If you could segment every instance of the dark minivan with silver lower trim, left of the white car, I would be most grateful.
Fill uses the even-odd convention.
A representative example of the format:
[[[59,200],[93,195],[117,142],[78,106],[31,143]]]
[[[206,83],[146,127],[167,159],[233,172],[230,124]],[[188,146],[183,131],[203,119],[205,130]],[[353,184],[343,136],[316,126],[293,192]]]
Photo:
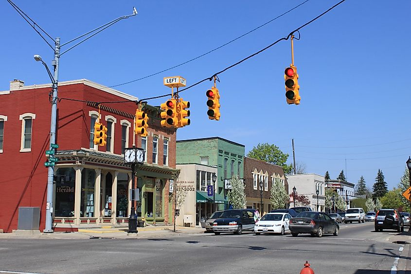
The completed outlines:
[[[213,222],[214,234],[220,235],[221,232],[233,232],[240,235],[246,230],[253,231],[258,217],[259,214],[256,209],[224,210],[221,216]]]

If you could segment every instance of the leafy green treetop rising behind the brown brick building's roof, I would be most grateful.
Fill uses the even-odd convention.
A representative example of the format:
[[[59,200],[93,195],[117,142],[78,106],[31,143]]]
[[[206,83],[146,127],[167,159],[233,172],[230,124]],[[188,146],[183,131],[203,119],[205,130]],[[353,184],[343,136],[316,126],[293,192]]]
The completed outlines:
[[[286,174],[290,174],[292,170],[292,164],[286,164],[288,154],[283,153],[280,148],[275,145],[268,145],[268,143],[258,144],[247,153],[247,157],[280,165]]]

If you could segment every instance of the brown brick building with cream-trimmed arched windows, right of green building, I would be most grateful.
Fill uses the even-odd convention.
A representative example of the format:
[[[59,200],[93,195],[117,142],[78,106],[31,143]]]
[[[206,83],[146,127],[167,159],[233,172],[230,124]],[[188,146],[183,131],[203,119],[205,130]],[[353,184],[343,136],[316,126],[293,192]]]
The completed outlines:
[[[263,183],[263,206],[260,205],[260,178]],[[272,209],[270,204],[271,187],[275,180],[278,179],[283,183],[286,193],[288,193],[287,178],[284,175],[284,170],[276,164],[269,164],[264,161],[253,158],[244,158],[244,184],[247,200],[247,208],[255,208],[261,212],[270,212]],[[286,204],[284,204],[286,206]],[[260,208],[262,210],[260,210]]]

